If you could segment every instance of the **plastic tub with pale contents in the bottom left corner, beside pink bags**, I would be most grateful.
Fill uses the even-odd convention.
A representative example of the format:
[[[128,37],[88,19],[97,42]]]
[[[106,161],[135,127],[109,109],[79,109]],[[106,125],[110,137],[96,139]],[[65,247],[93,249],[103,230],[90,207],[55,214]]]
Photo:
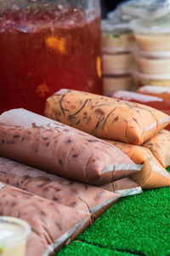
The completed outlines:
[[[24,256],[30,224],[20,218],[0,217],[0,255]]]

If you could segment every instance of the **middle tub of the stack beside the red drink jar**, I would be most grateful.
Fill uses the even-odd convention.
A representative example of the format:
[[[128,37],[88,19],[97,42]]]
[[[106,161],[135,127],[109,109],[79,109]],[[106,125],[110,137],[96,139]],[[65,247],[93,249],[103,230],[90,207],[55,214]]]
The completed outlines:
[[[103,54],[102,67],[103,74],[127,74],[133,64],[131,53]]]

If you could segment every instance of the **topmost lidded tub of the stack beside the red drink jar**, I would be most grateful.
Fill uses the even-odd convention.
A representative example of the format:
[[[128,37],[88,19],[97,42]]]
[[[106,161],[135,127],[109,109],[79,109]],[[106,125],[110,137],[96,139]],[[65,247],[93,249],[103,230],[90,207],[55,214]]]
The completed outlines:
[[[134,44],[133,32],[126,24],[102,20],[102,52],[117,53],[130,50]]]

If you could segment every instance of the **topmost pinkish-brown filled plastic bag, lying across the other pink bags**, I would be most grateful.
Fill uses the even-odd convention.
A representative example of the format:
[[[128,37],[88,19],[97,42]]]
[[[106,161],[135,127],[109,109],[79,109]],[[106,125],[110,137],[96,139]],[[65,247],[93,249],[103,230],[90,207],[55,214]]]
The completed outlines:
[[[0,137],[2,156],[83,183],[102,185],[141,169],[118,148],[24,109],[0,116]]]

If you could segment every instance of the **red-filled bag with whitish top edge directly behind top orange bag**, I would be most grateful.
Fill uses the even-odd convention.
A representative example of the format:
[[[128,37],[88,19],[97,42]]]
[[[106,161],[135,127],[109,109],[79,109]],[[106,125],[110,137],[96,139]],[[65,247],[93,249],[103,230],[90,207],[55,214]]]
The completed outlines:
[[[138,92],[117,90],[113,97],[128,102],[137,102],[161,110],[164,113],[170,115],[170,101],[163,100],[157,96],[142,95]]]

